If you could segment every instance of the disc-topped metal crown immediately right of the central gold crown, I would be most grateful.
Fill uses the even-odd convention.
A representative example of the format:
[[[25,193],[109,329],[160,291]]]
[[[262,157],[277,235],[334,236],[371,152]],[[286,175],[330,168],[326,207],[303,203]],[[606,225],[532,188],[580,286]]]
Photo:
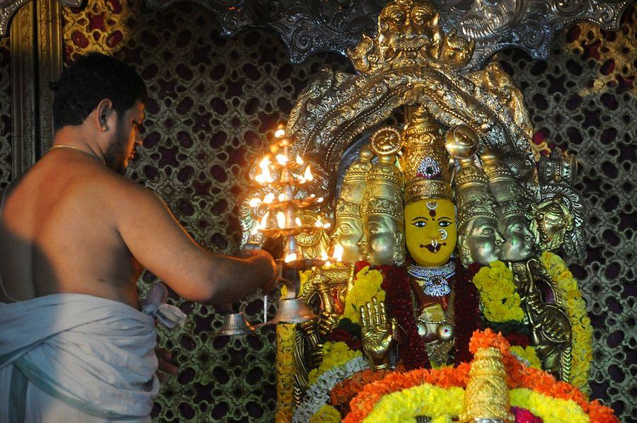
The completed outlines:
[[[445,147],[460,165],[454,178],[458,227],[462,228],[478,216],[497,221],[495,199],[489,192],[486,174],[474,161],[477,149],[476,133],[464,125],[450,129],[447,132]]]

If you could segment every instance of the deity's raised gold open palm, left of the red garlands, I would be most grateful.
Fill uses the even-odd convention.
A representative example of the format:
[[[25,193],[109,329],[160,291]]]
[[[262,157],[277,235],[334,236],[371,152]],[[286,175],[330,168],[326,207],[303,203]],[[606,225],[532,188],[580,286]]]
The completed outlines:
[[[362,347],[372,369],[385,369],[389,365],[389,349],[396,338],[396,319],[387,321],[385,303],[374,296],[359,309]]]

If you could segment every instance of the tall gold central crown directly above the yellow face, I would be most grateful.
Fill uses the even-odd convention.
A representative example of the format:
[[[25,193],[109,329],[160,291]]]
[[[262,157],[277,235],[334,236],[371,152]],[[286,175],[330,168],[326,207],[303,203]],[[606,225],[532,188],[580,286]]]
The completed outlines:
[[[418,108],[405,128],[405,204],[419,199],[453,200],[449,156],[440,127],[425,108]]]

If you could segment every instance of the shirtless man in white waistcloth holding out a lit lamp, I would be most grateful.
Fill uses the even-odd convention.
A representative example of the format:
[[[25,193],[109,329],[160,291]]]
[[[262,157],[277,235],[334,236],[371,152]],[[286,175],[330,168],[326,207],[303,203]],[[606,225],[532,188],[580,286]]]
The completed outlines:
[[[8,408],[7,404],[13,401],[11,398],[16,393],[12,391],[12,379],[17,373],[22,373],[28,385],[24,388],[26,411],[22,406],[14,411],[18,415],[20,410],[26,412],[22,417],[27,421],[29,416],[42,419],[42,422],[48,421],[42,417],[47,415],[46,410],[42,414],[42,404],[56,414],[52,417],[48,412],[50,421],[64,421],[64,417],[59,415],[63,413],[60,410],[67,410],[67,405],[77,405],[77,402],[80,405],[74,408],[91,416],[86,421],[101,422],[121,417],[147,421],[151,396],[156,393],[156,388],[151,388],[156,386],[156,379],[147,374],[148,369],[144,373],[148,380],[142,378],[134,382],[125,381],[124,384],[128,384],[130,392],[137,392],[140,386],[145,386],[150,395],[134,400],[131,395],[122,394],[124,401],[135,402],[126,408],[104,400],[102,396],[108,396],[108,393],[96,385],[97,381],[88,381],[88,386],[74,390],[70,385],[75,382],[74,379],[83,376],[79,371],[71,371],[67,375],[68,380],[63,378],[50,383],[47,380],[49,376],[42,373],[47,369],[57,370],[50,369],[50,366],[66,360],[66,356],[62,357],[60,353],[62,358],[45,358],[42,361],[45,364],[39,364],[35,356],[47,353],[39,352],[33,344],[41,344],[41,340],[25,340],[13,347],[7,344],[22,334],[29,337],[30,330],[38,331],[42,325],[55,326],[50,322],[55,322],[56,318],[62,325],[67,313],[75,313],[70,311],[69,303],[78,301],[82,303],[81,307],[85,307],[83,301],[91,305],[76,313],[74,319],[91,315],[94,309],[91,307],[96,303],[100,311],[113,307],[112,311],[105,312],[107,319],[118,315],[129,318],[130,314],[132,321],[147,325],[147,320],[144,320],[147,316],[139,312],[136,289],[137,279],[144,268],[156,274],[184,299],[213,306],[239,300],[258,288],[268,291],[275,282],[276,265],[268,253],[256,250],[246,253],[247,257],[235,258],[207,252],[188,236],[154,192],[122,176],[134,156],[135,146],[142,144],[139,126],[144,120],[146,95],[142,79],[116,59],[102,54],[89,54],[78,59],[64,71],[57,83],[53,106],[56,132],[52,149],[8,187],[0,209],[0,282],[4,288],[0,290],[0,410]],[[53,301],[54,304],[34,301]],[[29,306],[31,303],[35,305]],[[13,309],[10,310],[11,307]],[[52,314],[41,317],[31,314],[30,318],[25,318],[21,315],[37,314],[40,310],[46,313],[49,309],[54,310]],[[38,320],[38,326],[32,328],[29,322],[33,319]],[[108,330],[113,330],[113,325],[117,327],[123,318],[113,319],[119,320],[111,322]],[[14,321],[10,324],[9,320]],[[55,340],[59,333],[70,336],[68,333],[72,332],[76,336],[75,329],[71,328],[73,325],[79,323],[69,324],[68,332],[66,327],[50,329],[51,333],[42,335],[42,338],[49,342],[50,339]],[[91,332],[91,325],[96,325],[96,322],[86,322],[83,333]],[[129,327],[130,322],[122,325],[121,335],[133,339],[137,335],[127,333]],[[18,329],[21,333],[17,332]],[[149,337],[146,329],[144,326],[144,340]],[[11,330],[13,332],[9,334]],[[101,330],[96,332],[101,334]],[[62,339],[62,335],[57,337]],[[74,338],[74,342],[83,341]],[[87,340],[86,344],[96,342],[110,341],[100,338],[97,341]],[[64,350],[67,347],[59,348]],[[127,347],[118,344],[119,349],[113,355],[130,353],[139,356],[139,368],[156,368],[152,347],[154,345],[144,344],[142,352],[131,353]],[[91,349],[84,344],[76,347],[84,348]],[[109,348],[110,345],[102,346],[96,354],[102,354],[104,349]],[[122,352],[122,348],[125,351]],[[23,354],[23,349],[29,352]],[[13,356],[13,359],[2,361],[6,359],[3,354]],[[70,354],[74,354],[73,351]],[[110,357],[99,359],[112,361]],[[91,360],[90,357],[87,359]],[[130,362],[115,365],[109,361],[108,369],[113,366],[122,366],[122,375],[117,376],[121,378],[138,371]],[[13,378],[11,370],[17,372]],[[103,370],[93,373],[100,371]],[[109,383],[113,384],[113,381]],[[100,390],[101,397],[88,395],[87,398],[81,393],[83,388]],[[52,393],[52,390],[55,392]],[[33,400],[30,397],[35,392],[40,397],[47,394],[62,397],[64,404],[51,405],[52,398],[47,398],[34,406],[29,401]],[[120,393],[114,392],[114,395],[120,397]],[[121,402],[122,398],[114,401]],[[103,403],[94,404],[93,401]],[[30,407],[40,407],[40,415]],[[9,410],[9,421],[11,412]],[[29,415],[29,412],[32,414]],[[0,412],[1,422],[6,421],[4,417]],[[77,415],[73,418],[84,421]]]

